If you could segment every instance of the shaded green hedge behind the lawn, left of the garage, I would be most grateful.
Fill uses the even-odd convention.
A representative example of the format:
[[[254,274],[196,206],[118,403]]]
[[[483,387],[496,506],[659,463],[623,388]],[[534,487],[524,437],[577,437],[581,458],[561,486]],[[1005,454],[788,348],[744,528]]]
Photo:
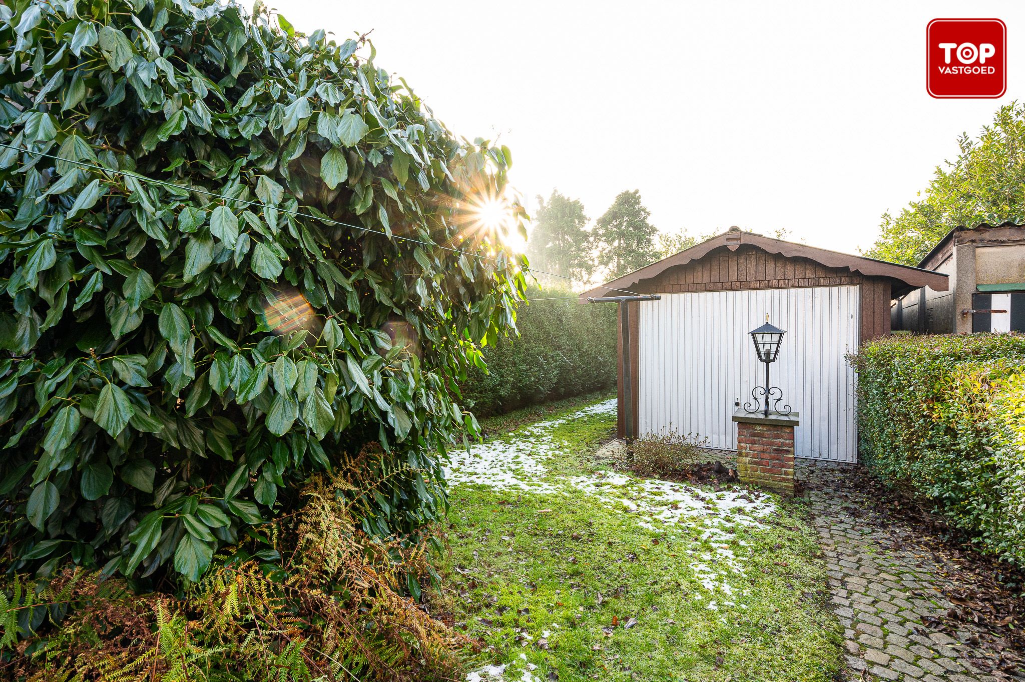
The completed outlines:
[[[520,336],[485,346],[487,371],[474,369],[460,387],[478,417],[616,385],[615,305],[581,305],[559,289],[528,298],[541,300],[521,306]]]

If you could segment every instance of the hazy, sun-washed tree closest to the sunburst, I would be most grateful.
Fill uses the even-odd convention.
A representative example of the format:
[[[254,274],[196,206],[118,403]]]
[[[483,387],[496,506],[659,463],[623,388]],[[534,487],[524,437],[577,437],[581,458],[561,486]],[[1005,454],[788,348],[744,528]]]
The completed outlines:
[[[587,216],[583,204],[551,190],[548,202],[537,198],[534,229],[530,235],[527,255],[531,266],[583,281],[594,268],[590,259],[590,236],[584,227]]]

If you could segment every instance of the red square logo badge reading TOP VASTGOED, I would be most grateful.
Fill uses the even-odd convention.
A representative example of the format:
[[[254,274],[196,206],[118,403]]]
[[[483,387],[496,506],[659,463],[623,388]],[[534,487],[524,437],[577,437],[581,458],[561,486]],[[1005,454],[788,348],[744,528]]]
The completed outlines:
[[[934,97],[1001,97],[1008,27],[1000,19],[933,19],[926,28],[926,87]]]

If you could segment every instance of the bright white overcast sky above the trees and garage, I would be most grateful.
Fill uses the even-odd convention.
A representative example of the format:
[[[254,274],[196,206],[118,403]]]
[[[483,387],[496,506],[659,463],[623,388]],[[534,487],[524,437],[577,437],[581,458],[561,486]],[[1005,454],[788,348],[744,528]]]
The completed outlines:
[[[1025,2],[270,2],[300,31],[373,31],[455,133],[512,152],[535,206],[591,220],[639,189],[660,230],[731,225],[856,253],[1002,104],[1025,95]],[[926,26],[1008,27],[999,99],[926,90]]]

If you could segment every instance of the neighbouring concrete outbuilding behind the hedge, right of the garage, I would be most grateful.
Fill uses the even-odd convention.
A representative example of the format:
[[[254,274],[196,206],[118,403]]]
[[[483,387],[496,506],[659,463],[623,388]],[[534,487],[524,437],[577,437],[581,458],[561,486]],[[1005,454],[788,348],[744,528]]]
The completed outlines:
[[[948,274],[950,290],[920,289],[897,299],[894,330],[1025,332],[1025,225],[954,227],[918,267]]]

